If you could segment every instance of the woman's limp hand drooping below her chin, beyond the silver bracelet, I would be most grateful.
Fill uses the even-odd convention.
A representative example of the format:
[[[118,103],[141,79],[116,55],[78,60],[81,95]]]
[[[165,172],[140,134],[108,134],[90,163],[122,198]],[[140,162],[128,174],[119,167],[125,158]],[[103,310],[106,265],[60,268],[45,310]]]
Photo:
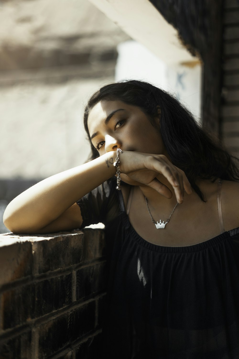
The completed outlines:
[[[154,155],[135,151],[123,151],[119,155],[120,172],[131,180],[152,187],[166,198],[172,197],[171,190],[159,181],[162,175],[172,185],[177,201],[182,203],[184,190],[192,193],[185,173],[173,165],[165,155]],[[122,180],[123,180],[123,176]]]

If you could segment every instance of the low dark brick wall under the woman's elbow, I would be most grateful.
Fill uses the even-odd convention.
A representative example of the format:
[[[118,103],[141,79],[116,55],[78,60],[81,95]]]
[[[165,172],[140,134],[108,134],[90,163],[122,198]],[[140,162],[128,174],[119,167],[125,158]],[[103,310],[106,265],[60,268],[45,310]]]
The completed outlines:
[[[0,235],[0,359],[97,358],[104,232]]]

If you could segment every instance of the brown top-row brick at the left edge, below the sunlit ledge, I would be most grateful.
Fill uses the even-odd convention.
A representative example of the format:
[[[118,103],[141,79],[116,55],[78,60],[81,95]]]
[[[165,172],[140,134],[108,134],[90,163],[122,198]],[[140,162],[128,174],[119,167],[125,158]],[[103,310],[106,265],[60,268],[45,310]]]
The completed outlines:
[[[0,247],[0,286],[31,275],[33,271],[32,243],[10,244],[7,241],[6,236]]]

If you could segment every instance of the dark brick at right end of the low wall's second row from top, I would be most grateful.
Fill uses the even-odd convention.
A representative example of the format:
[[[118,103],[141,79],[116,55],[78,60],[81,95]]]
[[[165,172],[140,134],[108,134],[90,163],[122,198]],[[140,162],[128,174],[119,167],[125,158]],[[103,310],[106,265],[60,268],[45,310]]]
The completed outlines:
[[[106,290],[106,262],[76,271],[76,300]]]

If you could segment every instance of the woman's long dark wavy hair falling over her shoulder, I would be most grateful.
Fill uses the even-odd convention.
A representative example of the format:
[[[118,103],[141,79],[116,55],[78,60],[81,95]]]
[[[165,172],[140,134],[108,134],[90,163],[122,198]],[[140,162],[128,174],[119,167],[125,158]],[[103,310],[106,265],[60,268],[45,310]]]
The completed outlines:
[[[191,112],[173,95],[138,80],[120,81],[102,87],[91,96],[85,107],[84,126],[89,140],[89,111],[101,100],[118,100],[138,106],[156,130],[159,129],[153,117],[157,116],[157,106],[160,106],[160,132],[164,146],[173,165],[185,172],[192,188],[203,202],[207,200],[195,183],[197,177],[212,179],[212,182],[217,178],[239,181],[239,167],[235,163],[239,158],[231,155],[209,130],[202,129]],[[99,157],[92,143],[91,149],[90,159]]]

